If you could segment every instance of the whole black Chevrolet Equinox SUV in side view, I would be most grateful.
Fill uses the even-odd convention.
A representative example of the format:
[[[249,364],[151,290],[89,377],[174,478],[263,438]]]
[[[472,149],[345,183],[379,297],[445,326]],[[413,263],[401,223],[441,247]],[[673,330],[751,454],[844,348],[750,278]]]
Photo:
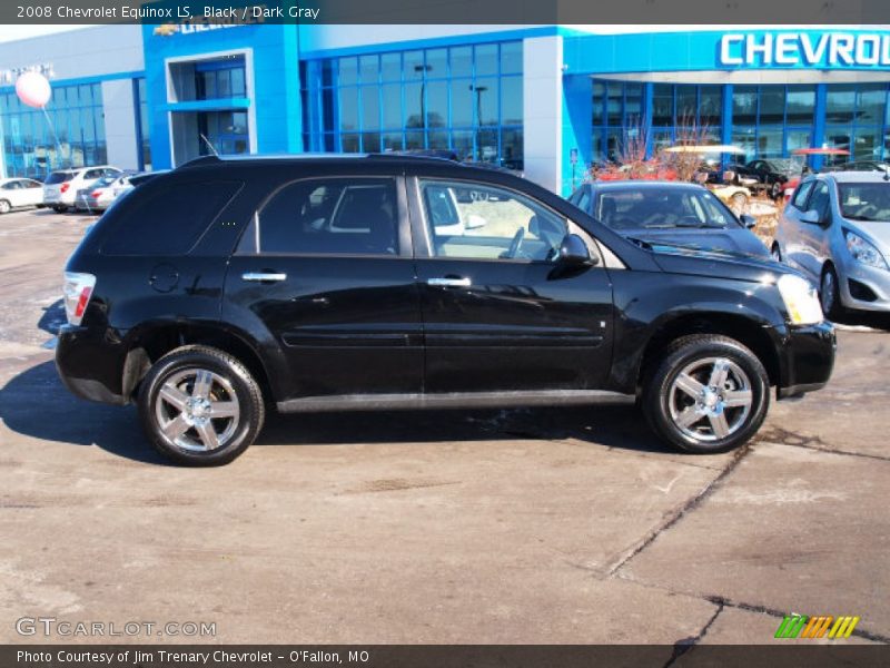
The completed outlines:
[[[497,170],[404,156],[199,158],[111,207],[66,272],[76,394],[139,405],[187,464],[265,412],[636,395],[692,452],[822,387],[834,333],[770,259],[625,239]]]

